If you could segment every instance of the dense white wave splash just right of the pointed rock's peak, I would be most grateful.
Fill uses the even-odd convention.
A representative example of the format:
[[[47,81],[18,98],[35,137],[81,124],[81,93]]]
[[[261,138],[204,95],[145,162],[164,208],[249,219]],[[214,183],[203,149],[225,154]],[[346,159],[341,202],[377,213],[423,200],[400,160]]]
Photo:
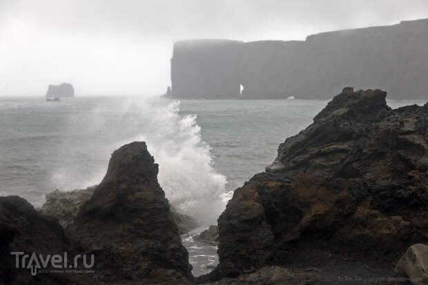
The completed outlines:
[[[200,222],[215,223],[225,205],[226,177],[213,169],[213,156],[201,138],[196,116],[180,116],[178,101],[151,106],[156,106],[150,115],[153,131],[142,130],[133,140],[147,142],[171,205]]]

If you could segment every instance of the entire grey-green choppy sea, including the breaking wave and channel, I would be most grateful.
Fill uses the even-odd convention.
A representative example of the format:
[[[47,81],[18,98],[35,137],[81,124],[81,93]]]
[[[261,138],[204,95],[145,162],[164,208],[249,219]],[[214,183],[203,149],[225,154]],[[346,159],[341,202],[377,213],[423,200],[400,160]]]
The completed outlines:
[[[55,189],[93,186],[113,150],[146,141],[159,184],[182,213],[215,224],[232,191],[262,172],[278,145],[311,124],[327,101],[156,97],[0,97],[0,195],[36,207]],[[425,101],[388,101],[391,108]],[[196,233],[193,233],[196,234]],[[215,245],[183,237],[194,275],[217,263]]]

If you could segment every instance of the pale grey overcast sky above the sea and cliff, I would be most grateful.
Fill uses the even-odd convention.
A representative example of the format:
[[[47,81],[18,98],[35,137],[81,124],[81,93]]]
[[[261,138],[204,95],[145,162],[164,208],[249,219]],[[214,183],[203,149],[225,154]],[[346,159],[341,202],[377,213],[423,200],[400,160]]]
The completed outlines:
[[[427,0],[0,0],[0,95],[155,95],[180,39],[304,39],[428,18]]]

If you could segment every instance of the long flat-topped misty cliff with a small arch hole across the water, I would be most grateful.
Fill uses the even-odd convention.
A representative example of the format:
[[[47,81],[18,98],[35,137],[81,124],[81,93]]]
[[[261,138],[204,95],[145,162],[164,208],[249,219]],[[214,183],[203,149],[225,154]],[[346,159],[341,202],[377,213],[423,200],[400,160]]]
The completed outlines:
[[[329,99],[342,86],[355,86],[382,88],[389,99],[428,99],[427,66],[427,19],[306,41],[179,41],[171,96]]]

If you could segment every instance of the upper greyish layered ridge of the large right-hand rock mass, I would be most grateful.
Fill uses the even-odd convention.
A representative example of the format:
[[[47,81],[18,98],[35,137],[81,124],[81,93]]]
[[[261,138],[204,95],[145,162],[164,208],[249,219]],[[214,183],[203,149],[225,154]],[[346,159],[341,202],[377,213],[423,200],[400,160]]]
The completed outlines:
[[[344,88],[313,124],[286,139],[266,170],[364,178],[376,184],[407,180],[428,163],[427,108],[390,110],[386,92]]]

